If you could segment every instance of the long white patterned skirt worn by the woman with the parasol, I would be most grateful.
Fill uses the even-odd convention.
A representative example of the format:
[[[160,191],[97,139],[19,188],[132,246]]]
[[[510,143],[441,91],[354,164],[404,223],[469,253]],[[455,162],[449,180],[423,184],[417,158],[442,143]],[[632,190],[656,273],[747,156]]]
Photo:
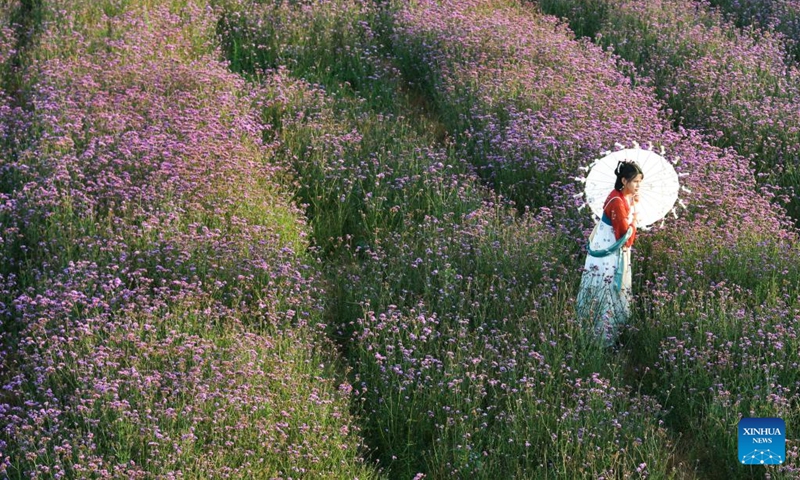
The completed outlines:
[[[616,241],[613,227],[601,221],[589,237],[589,247],[598,251]],[[605,257],[586,256],[576,310],[584,327],[591,328],[592,334],[606,346],[614,343],[619,327],[630,317],[630,259],[628,248],[620,248]],[[617,268],[623,269],[621,287],[614,281]]]

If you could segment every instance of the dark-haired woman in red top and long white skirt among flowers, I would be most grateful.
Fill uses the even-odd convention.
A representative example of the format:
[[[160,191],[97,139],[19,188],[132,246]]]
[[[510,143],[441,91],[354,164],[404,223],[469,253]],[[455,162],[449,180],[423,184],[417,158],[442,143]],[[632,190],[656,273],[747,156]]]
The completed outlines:
[[[591,325],[606,346],[614,343],[619,326],[630,316],[630,249],[636,239],[635,205],[644,178],[642,169],[632,161],[619,162],[614,173],[614,190],[589,237],[576,307],[584,325]]]

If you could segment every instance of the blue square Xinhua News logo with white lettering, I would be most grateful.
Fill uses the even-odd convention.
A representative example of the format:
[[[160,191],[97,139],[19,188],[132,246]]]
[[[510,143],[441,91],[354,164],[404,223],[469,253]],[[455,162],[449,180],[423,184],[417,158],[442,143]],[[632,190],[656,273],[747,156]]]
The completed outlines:
[[[739,462],[778,465],[786,460],[786,423],[780,418],[739,420]]]

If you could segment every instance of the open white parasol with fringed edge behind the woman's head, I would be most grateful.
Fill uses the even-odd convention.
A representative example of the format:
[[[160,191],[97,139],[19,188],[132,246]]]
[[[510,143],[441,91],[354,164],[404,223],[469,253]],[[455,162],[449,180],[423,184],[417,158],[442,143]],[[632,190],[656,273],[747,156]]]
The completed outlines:
[[[662,148],[663,155],[663,148]],[[637,226],[646,228],[664,218],[670,211],[674,212],[675,202],[685,207],[678,200],[681,189],[678,174],[672,164],[662,155],[639,148],[626,148],[608,152],[589,167],[589,174],[583,195],[592,212],[599,218],[603,215],[603,206],[608,194],[614,189],[617,176],[614,170],[623,160],[633,160],[642,169],[644,178],[639,186],[639,201],[636,203]],[[684,190],[688,191],[686,188]]]

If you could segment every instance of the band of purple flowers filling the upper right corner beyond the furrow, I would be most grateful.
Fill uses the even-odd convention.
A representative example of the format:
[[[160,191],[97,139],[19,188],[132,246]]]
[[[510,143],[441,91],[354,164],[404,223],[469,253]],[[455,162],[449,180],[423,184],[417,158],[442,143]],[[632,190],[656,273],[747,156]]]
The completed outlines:
[[[752,162],[760,185],[797,219],[800,183],[799,73],[769,30],[741,30],[695,1],[609,0],[602,16],[585,2],[539,2],[546,13],[574,15],[570,25],[631,62],[676,125],[704,133]]]

